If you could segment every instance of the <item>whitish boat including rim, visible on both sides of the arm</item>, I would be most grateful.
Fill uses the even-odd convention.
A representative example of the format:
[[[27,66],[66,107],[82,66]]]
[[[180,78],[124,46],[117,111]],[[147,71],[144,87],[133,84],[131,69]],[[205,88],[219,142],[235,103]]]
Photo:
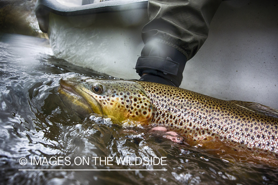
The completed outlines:
[[[117,78],[139,78],[134,67],[149,21],[146,0],[39,0],[36,11],[56,57]],[[180,87],[278,109],[277,12],[275,0],[222,1]]]

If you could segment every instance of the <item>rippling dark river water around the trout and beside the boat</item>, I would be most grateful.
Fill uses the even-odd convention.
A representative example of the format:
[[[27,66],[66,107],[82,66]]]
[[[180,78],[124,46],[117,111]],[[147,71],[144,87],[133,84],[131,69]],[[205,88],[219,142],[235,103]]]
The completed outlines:
[[[165,140],[146,128],[115,125],[103,116],[81,120],[61,102],[56,90],[59,79],[66,73],[103,74],[55,58],[47,40],[1,35],[0,48],[0,184],[278,184],[277,168],[268,165],[232,162],[201,147]],[[31,164],[39,157],[47,162]],[[56,158],[50,161],[54,165],[49,164],[51,157]],[[63,165],[55,165],[58,157]],[[89,165],[86,161],[77,165],[83,157],[87,161],[89,157]],[[113,165],[104,161],[100,165],[93,157],[111,157]],[[167,165],[118,165],[120,157],[130,157],[131,164],[135,157],[167,157],[163,158]],[[26,165],[20,164],[21,158],[26,158]]]

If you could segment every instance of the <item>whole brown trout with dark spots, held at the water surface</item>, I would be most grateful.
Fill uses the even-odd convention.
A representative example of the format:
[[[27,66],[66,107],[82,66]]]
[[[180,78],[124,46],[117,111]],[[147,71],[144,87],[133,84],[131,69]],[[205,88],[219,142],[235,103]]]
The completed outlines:
[[[79,115],[96,113],[164,126],[196,140],[214,137],[278,153],[278,110],[158,83],[65,76],[58,92]]]

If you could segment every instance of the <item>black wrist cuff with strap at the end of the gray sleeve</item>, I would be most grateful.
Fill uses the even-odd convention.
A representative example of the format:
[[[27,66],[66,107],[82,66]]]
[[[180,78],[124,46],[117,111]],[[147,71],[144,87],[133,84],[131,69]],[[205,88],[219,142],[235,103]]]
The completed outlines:
[[[182,73],[186,62],[186,57],[173,47],[159,42],[147,42],[142,49],[141,57],[137,60],[135,69],[141,77],[143,74],[156,75],[163,79],[161,82],[157,80],[155,82],[163,83],[166,79],[179,87],[182,83]],[[151,76],[148,76],[148,79],[145,78],[145,80],[153,81]]]

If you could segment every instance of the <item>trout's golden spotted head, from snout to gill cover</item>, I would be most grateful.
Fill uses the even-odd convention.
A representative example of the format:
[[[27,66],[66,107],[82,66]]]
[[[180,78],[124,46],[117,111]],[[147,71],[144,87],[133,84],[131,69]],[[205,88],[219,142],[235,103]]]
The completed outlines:
[[[83,116],[96,113],[120,123],[131,119],[148,124],[154,115],[151,100],[135,81],[68,75],[61,78],[58,92],[67,107]]]

